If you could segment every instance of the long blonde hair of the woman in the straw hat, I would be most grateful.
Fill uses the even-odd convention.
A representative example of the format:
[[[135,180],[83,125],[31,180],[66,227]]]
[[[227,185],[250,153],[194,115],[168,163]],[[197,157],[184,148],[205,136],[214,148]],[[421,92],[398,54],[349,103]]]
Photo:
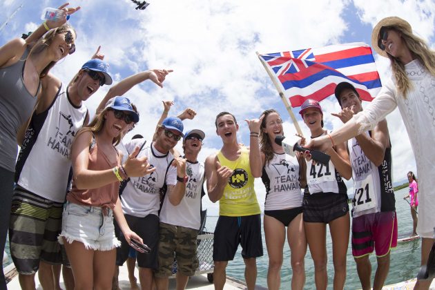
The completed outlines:
[[[435,51],[427,46],[426,41],[412,32],[401,29],[399,26],[387,26],[387,28],[398,31],[412,56],[418,59],[431,75],[435,76]],[[406,99],[407,93],[412,89],[412,83],[406,75],[405,64],[400,59],[389,55],[389,53],[387,53],[387,56],[392,64],[392,72],[396,79],[398,92]]]

